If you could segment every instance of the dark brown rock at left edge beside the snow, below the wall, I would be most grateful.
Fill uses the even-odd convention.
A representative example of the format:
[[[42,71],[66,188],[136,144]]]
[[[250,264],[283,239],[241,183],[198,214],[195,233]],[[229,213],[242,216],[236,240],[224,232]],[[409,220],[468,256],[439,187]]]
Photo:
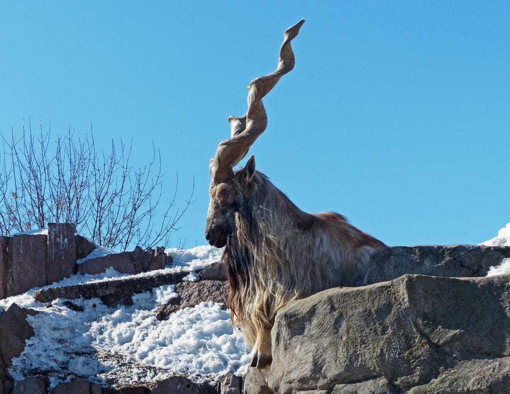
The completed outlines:
[[[12,358],[19,357],[25,341],[34,335],[34,329],[27,322],[29,314],[34,316],[37,312],[12,303],[0,316],[0,351],[7,367],[12,366]]]

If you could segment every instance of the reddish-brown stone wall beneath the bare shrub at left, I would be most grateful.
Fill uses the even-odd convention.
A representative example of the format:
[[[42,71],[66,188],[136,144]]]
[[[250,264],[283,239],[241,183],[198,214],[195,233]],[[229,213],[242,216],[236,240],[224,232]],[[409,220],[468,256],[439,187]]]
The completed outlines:
[[[75,234],[72,223],[48,223],[46,234],[0,236],[0,299],[22,294],[75,273],[97,274],[113,267],[118,272],[136,274],[165,268],[171,258],[163,247],[143,250],[137,246],[124,251],[86,260],[94,243]]]

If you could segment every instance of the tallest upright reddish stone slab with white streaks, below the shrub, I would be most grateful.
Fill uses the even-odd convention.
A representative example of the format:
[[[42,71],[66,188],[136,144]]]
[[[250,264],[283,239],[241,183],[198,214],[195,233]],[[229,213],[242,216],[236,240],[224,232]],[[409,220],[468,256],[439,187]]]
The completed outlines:
[[[48,223],[46,283],[74,274],[76,266],[76,226],[73,223]]]

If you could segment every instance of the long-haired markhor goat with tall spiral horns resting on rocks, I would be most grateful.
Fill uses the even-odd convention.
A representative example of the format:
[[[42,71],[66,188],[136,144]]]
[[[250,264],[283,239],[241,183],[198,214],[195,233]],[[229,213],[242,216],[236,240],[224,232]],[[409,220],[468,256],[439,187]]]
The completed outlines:
[[[361,285],[370,254],[384,246],[338,213],[301,211],[255,170],[253,156],[233,171],[266,129],[262,98],[294,67],[290,41],[303,22],[285,32],[276,71],[251,81],[248,112],[229,118],[231,138],[220,143],[210,165],[206,239],[225,246],[232,321],[254,346],[251,366],[258,368],[271,363],[271,328],[279,308],[328,288]]]

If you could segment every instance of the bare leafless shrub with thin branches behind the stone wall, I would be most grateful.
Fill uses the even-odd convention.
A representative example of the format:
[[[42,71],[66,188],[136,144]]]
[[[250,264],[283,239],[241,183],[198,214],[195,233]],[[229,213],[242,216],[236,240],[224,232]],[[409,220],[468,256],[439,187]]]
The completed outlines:
[[[166,209],[163,197],[161,154],[152,144],[147,164],[137,170],[130,164],[132,143],[115,144],[105,152],[96,149],[92,129],[83,139],[74,131],[25,132],[3,138],[0,153],[0,234],[10,235],[46,228],[48,222],[72,222],[80,234],[97,244],[126,250],[130,245],[169,245],[172,230],[191,204],[175,207],[179,178]],[[55,153],[50,149],[55,148]]]

